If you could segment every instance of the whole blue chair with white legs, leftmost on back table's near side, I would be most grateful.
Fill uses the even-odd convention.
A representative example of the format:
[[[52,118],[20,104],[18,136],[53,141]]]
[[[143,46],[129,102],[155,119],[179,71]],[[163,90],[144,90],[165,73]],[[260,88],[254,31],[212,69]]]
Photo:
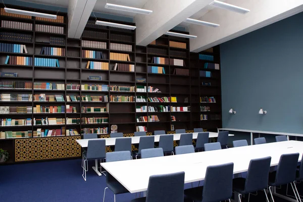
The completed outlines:
[[[86,172],[88,171],[88,162],[89,160],[103,160],[105,159],[105,139],[91,139],[88,140],[87,152],[83,155],[83,174],[82,177],[86,181]],[[86,163],[85,163],[86,162]],[[98,169],[95,167],[94,169]]]

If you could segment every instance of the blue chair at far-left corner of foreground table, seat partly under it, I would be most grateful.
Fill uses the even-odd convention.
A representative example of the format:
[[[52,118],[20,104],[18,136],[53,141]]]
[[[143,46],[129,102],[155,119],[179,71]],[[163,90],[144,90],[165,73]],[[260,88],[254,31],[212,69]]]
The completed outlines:
[[[126,160],[131,160],[130,151],[113,151],[113,152],[106,153],[107,162],[126,161]],[[116,194],[129,192],[110,173],[107,173],[107,175],[106,175],[106,185],[107,185],[107,187],[104,189],[103,202],[105,200],[105,192],[106,192],[107,188],[109,188],[113,191],[114,201],[116,201]]]

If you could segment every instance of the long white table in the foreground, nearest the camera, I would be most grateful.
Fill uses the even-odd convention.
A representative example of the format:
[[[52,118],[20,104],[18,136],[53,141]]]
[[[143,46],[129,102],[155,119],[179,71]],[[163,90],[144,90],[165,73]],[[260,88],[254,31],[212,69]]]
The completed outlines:
[[[299,153],[300,161],[302,148],[303,142],[291,140],[184,155],[101,163],[100,165],[129,192],[136,193],[147,190],[148,179],[151,175],[184,171],[185,183],[196,182],[205,179],[206,168],[211,165],[233,162],[234,174],[237,174],[247,171],[251,159],[271,156],[271,166],[276,166],[282,154]],[[277,194],[275,190],[274,193]],[[284,195],[279,196],[289,199]]]

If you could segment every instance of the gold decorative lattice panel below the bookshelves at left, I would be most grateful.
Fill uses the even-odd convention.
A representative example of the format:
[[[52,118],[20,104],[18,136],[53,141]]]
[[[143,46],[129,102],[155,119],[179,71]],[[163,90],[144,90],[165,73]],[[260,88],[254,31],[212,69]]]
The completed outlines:
[[[15,140],[15,161],[80,157],[80,137],[43,137]]]

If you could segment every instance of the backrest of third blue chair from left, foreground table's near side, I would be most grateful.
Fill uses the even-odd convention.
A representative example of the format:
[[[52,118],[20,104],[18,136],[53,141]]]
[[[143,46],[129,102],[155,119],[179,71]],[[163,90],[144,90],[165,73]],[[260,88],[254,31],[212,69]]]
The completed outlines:
[[[270,162],[271,157],[250,160],[244,188],[246,193],[267,188]]]

